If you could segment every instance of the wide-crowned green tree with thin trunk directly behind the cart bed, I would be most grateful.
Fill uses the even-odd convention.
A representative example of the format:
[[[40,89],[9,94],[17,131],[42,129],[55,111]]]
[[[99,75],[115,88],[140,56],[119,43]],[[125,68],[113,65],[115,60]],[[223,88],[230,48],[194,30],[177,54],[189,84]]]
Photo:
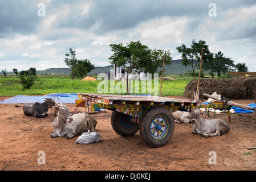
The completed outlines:
[[[157,68],[162,65],[162,60],[164,58],[164,51],[157,49],[149,49],[148,46],[145,46],[137,42],[130,42],[127,46],[123,44],[110,44],[111,51],[113,55],[108,59],[111,60],[109,63],[116,64],[117,67],[123,67],[125,72],[127,72],[127,94],[129,94],[128,86],[128,75],[132,74],[132,77],[136,73],[155,73]],[[172,63],[172,57],[170,57],[170,52],[166,52],[165,64],[169,65]],[[131,78],[132,80],[132,78]],[[131,84],[131,81],[130,81]]]

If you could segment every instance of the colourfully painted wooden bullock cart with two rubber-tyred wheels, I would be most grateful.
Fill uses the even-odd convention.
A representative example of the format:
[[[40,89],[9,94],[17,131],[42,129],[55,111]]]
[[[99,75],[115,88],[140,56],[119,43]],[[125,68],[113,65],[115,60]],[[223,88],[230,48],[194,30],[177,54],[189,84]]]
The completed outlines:
[[[152,147],[161,147],[172,137],[174,119],[170,111],[190,111],[192,107],[230,109],[224,101],[199,105],[196,101],[169,97],[78,93],[75,105],[91,111],[112,110],[111,125],[121,136],[140,130],[141,138]]]

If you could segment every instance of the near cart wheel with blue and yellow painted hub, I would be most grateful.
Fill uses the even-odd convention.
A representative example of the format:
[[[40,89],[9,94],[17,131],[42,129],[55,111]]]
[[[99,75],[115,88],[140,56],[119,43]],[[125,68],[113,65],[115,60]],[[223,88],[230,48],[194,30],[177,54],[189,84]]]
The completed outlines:
[[[172,137],[174,119],[164,107],[152,107],[141,119],[140,135],[151,147],[161,147]]]

